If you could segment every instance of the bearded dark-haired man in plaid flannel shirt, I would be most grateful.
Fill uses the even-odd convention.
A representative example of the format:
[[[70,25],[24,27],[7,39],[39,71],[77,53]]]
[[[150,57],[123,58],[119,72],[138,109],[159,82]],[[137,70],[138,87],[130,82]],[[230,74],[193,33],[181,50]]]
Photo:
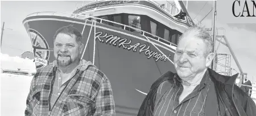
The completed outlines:
[[[32,79],[25,115],[115,115],[109,79],[90,61],[80,60],[81,33],[61,27],[53,45],[56,60]]]

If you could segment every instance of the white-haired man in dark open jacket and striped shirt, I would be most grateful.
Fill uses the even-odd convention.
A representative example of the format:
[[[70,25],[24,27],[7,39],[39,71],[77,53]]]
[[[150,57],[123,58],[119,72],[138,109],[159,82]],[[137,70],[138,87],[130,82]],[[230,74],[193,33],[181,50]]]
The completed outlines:
[[[222,76],[208,67],[212,63],[212,40],[199,26],[180,36],[174,65],[152,84],[138,116],[256,115],[253,100],[234,84],[238,74]]]

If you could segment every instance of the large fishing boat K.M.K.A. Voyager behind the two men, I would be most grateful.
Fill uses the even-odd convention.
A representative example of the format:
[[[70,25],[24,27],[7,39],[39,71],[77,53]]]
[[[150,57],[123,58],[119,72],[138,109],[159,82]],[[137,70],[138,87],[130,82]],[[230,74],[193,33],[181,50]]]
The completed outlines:
[[[151,84],[167,71],[176,72],[178,38],[194,23],[182,1],[94,1],[72,14],[33,13],[23,25],[37,69],[55,60],[53,36],[70,24],[83,37],[81,59],[109,78],[117,115],[137,115]]]

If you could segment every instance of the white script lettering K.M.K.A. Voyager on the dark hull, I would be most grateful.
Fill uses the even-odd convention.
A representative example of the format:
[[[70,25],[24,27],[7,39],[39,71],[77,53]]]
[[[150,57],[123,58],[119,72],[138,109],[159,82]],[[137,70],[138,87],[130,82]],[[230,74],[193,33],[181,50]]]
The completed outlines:
[[[96,33],[95,38],[101,43],[105,42],[106,44],[109,43],[110,45],[113,45],[113,46],[118,45],[118,47],[123,47],[124,49],[127,49],[128,51],[133,49],[133,52],[136,52],[137,47],[139,47],[139,53],[144,52],[144,54],[147,56],[147,59],[150,59],[151,57],[154,57],[155,61],[158,61],[158,60],[166,61],[167,57],[169,58],[171,56],[171,55],[162,55],[161,53],[150,50],[150,45],[141,44],[140,42],[135,43],[135,44],[132,45],[131,44],[131,42],[132,42],[131,39],[128,42],[128,39],[126,39],[126,38],[120,38],[118,36],[108,35],[108,33],[103,35],[103,32],[101,32],[101,31]],[[106,40],[103,40],[103,39],[106,39]]]

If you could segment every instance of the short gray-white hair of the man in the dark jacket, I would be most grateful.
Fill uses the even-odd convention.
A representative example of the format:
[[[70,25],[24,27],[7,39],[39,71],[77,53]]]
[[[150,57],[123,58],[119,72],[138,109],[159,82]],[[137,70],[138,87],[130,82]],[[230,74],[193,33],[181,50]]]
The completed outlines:
[[[195,24],[192,27],[189,27],[179,38],[182,39],[185,36],[194,36],[196,38],[202,39],[205,43],[206,51],[204,53],[205,57],[209,55],[209,53],[213,52],[213,42],[210,34],[207,32],[206,28],[201,25]]]

